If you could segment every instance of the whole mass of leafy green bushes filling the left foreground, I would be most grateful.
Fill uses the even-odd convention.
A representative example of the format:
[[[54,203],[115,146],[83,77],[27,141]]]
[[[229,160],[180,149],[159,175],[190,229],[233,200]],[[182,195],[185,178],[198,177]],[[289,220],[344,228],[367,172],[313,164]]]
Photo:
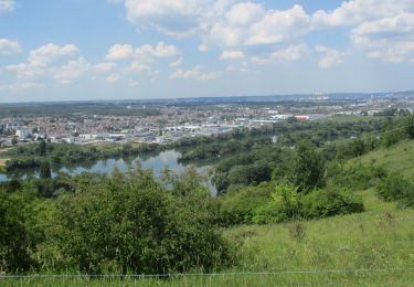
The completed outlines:
[[[33,182],[2,184],[0,269],[168,274],[229,266],[234,252],[214,223],[212,199],[190,179],[168,188],[140,169],[83,174],[54,199]]]

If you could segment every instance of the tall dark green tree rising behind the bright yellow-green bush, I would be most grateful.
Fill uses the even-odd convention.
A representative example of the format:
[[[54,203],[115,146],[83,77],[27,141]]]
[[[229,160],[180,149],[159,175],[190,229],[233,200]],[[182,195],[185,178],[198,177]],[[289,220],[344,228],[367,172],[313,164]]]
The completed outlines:
[[[301,141],[297,146],[290,178],[294,185],[305,192],[325,184],[325,162],[308,141]]]

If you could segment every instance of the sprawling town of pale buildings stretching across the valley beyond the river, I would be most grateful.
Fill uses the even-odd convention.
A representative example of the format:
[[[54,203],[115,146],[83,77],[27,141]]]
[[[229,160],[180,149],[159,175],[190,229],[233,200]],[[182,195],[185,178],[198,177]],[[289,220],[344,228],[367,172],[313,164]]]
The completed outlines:
[[[82,103],[81,103],[82,104]],[[79,105],[81,105],[79,104]],[[41,105],[41,104],[40,104]],[[8,108],[8,107],[6,107]],[[157,103],[151,106],[120,105],[117,115],[73,113],[57,115],[1,115],[0,145],[47,140],[92,145],[98,142],[177,141],[183,137],[223,134],[237,127],[254,128],[280,121],[307,121],[340,116],[393,116],[412,114],[414,93],[355,98],[308,96],[270,102],[245,99],[240,103]],[[151,109],[148,116],[128,111]],[[105,109],[105,106],[103,107]],[[125,110],[125,115],[123,115]],[[17,113],[18,114],[18,113]]]

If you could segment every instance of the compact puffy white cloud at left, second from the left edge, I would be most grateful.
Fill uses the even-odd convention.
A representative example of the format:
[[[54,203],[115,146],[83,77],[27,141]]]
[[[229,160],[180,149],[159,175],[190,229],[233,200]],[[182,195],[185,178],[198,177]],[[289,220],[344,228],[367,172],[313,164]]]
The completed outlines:
[[[49,43],[30,51],[28,61],[32,66],[42,67],[49,65],[56,59],[74,55],[77,53],[79,53],[79,50],[73,44],[60,46],[53,43]]]

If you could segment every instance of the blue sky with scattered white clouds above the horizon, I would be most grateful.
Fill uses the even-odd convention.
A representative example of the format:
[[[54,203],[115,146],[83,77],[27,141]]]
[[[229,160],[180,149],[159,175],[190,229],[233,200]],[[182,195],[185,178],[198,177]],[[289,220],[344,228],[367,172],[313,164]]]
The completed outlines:
[[[0,0],[0,103],[414,89],[413,0]]]

